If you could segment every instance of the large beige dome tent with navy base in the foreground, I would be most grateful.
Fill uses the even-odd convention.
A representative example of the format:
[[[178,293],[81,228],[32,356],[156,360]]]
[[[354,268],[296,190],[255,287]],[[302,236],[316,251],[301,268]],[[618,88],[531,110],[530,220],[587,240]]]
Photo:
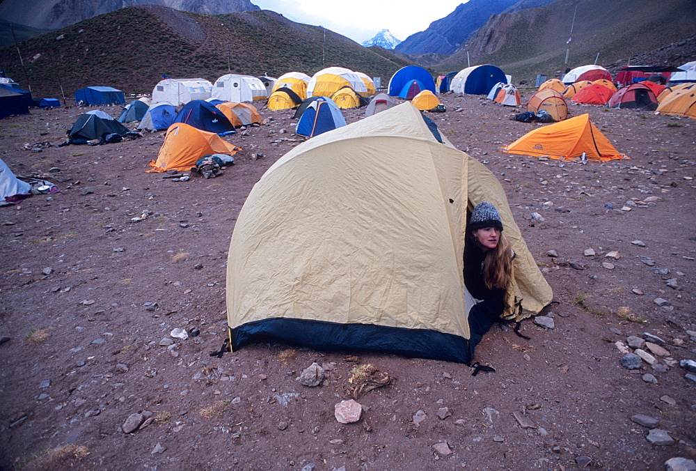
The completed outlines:
[[[280,341],[469,362],[464,233],[467,208],[482,201],[517,254],[505,318],[551,302],[496,176],[433,130],[404,103],[269,168],[230,242],[233,350]]]

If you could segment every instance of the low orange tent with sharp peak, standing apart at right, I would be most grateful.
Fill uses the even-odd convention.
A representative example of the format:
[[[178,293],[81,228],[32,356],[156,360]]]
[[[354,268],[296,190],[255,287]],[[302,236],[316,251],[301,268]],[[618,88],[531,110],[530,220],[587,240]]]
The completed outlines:
[[[592,124],[589,114],[537,128],[503,147],[503,152],[559,160],[574,160],[584,154],[587,160],[600,162],[628,158]]]

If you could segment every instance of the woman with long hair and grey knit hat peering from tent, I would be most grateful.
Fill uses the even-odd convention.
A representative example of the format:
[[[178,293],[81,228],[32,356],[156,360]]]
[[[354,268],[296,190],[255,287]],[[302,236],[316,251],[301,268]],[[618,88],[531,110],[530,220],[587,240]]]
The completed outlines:
[[[464,284],[475,303],[468,314],[470,358],[473,360],[475,346],[505,310],[514,252],[503,236],[500,214],[491,203],[484,201],[476,205],[466,232]]]

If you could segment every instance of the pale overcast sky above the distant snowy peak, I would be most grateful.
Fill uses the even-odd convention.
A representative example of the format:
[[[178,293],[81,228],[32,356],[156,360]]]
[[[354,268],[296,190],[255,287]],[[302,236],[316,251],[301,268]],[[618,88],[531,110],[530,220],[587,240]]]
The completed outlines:
[[[274,10],[297,23],[315,24],[347,36],[358,43],[388,29],[399,40],[454,11],[468,0],[251,0],[264,10]]]

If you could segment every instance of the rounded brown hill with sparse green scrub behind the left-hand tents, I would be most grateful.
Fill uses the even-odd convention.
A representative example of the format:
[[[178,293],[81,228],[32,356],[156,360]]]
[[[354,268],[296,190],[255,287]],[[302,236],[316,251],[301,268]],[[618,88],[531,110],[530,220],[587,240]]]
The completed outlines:
[[[150,93],[162,74],[214,81],[230,72],[312,75],[340,65],[391,77],[402,67],[345,36],[268,10],[209,16],[129,7],[26,40],[20,50],[33,94],[62,98],[62,85],[68,99],[93,85]],[[24,77],[15,47],[0,49],[0,68],[17,80]]]

